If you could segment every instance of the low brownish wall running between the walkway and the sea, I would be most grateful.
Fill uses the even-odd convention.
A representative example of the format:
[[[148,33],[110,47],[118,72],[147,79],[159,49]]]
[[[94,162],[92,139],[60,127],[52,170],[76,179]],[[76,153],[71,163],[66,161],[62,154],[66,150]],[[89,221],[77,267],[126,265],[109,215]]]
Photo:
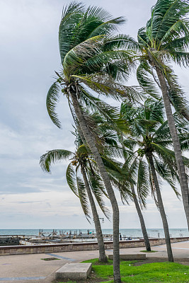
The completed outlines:
[[[171,243],[189,241],[189,237],[171,238]],[[165,243],[164,238],[151,238],[151,246],[161,245]],[[120,241],[120,248],[137,248],[144,247],[144,240],[136,241]],[[105,249],[113,249],[113,241],[105,242]],[[88,243],[59,243],[44,244],[33,246],[0,246],[0,255],[23,255],[32,253],[61,253],[79,250],[98,250],[97,242]]]

